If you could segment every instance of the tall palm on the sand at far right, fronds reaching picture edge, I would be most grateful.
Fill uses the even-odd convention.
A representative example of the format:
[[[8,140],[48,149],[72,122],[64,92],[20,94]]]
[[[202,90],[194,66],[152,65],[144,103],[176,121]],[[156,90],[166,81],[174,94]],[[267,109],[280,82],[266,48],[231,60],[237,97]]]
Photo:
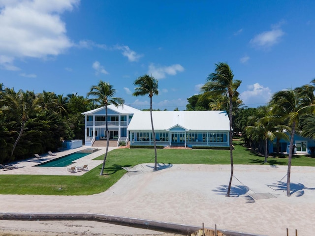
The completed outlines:
[[[314,106],[314,87],[306,85],[296,89],[287,89],[273,94],[271,103],[273,113],[282,114],[291,125],[290,146],[287,164],[286,196],[290,197],[291,161],[293,153],[293,141],[296,127],[303,115],[312,113]]]

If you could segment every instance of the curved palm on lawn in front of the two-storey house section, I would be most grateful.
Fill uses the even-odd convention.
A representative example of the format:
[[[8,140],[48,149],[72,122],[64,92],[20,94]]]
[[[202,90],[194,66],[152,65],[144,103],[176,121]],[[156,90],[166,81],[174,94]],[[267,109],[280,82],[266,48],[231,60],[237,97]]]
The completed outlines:
[[[90,92],[88,92],[88,96],[95,96],[95,98],[90,99],[91,101],[98,102],[102,106],[105,107],[105,124],[106,124],[106,151],[104,155],[103,165],[102,169],[100,171],[100,176],[103,175],[104,168],[105,168],[105,162],[107,158],[108,153],[108,146],[109,146],[109,133],[108,133],[108,121],[107,121],[107,105],[113,104],[116,107],[119,105],[124,105],[125,100],[121,97],[114,97],[116,93],[116,89],[113,88],[112,85],[110,85],[107,82],[99,81],[98,85],[93,85],[91,87]]]

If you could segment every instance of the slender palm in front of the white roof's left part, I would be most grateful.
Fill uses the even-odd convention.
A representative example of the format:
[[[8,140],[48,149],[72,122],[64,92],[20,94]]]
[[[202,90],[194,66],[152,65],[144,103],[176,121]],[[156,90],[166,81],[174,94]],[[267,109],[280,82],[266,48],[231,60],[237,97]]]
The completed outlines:
[[[154,170],[157,170],[157,142],[156,142],[156,135],[154,132],[153,126],[153,118],[152,118],[152,97],[153,95],[158,95],[158,80],[152,76],[144,75],[138,77],[133,85],[138,86],[135,88],[133,96],[144,96],[148,95],[150,97],[150,115],[151,115],[151,125],[152,125],[152,135],[153,135],[153,144],[154,144],[154,151],[155,151],[155,163],[154,163]]]

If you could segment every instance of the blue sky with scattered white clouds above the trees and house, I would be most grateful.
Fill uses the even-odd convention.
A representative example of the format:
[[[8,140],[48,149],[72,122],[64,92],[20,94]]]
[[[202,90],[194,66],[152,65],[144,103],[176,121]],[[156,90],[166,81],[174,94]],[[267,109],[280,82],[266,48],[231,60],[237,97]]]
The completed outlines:
[[[313,0],[0,0],[0,83],[86,96],[109,82],[127,105],[133,82],[158,79],[154,108],[185,110],[227,62],[246,106],[315,78]]]

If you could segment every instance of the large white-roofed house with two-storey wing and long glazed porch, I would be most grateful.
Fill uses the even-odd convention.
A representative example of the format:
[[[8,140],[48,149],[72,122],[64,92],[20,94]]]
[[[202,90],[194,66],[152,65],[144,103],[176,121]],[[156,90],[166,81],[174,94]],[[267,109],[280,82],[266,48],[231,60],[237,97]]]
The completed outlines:
[[[130,145],[154,145],[150,112],[127,105],[109,105],[109,139]],[[104,107],[82,113],[85,116],[85,145],[106,140]],[[159,146],[229,147],[229,118],[222,111],[153,112],[156,141]]]

